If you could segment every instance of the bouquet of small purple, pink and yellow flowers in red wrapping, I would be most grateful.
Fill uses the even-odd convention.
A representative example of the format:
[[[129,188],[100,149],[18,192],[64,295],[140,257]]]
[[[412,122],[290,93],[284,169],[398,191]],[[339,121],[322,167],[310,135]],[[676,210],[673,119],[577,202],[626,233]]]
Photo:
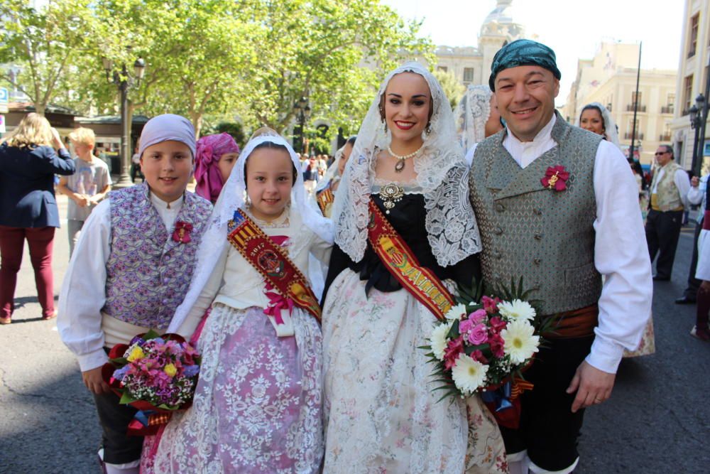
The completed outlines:
[[[181,335],[150,330],[129,344],[109,351],[102,376],[121,397],[119,403],[138,409],[129,434],[155,434],[173,411],[187,409],[197,387],[200,354]]]

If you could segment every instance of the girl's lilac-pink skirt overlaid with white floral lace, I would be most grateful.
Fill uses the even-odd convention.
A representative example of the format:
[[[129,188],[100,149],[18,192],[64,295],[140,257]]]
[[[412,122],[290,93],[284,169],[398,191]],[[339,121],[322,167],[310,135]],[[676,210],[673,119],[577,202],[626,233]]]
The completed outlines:
[[[278,338],[263,309],[216,304],[198,341],[192,407],[173,416],[141,472],[317,473],[322,336],[300,309],[293,325],[295,337]]]

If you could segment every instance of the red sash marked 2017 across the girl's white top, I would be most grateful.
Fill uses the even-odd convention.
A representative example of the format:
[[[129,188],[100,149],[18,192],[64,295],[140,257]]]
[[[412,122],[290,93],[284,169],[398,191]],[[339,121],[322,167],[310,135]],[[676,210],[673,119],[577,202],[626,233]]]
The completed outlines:
[[[275,244],[244,211],[234,211],[227,240],[284,298],[308,311],[320,323],[318,299],[301,271],[280,245]]]

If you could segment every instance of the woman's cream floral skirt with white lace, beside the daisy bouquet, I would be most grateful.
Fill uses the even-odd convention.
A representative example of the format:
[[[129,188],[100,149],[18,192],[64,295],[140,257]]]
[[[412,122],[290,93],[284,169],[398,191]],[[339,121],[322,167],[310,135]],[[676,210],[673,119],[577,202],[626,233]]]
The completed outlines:
[[[346,269],[323,310],[324,473],[506,473],[503,439],[479,397],[432,392],[435,316],[405,290]]]

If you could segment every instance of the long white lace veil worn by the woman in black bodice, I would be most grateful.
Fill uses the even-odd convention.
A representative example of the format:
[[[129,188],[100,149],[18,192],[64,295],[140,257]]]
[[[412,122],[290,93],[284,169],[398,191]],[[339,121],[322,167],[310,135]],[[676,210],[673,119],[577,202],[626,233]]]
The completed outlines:
[[[381,122],[380,97],[391,78],[402,72],[424,77],[432,93],[431,132],[422,135],[422,152],[413,160],[416,184],[425,198],[426,230],[432,253],[439,265],[449,266],[480,252],[481,237],[469,203],[469,168],[459,145],[449,99],[436,78],[415,62],[390,72],[362,122],[333,205],[335,242],[354,262],[364,257],[376,153],[387,149],[391,141],[390,132],[385,131]]]

